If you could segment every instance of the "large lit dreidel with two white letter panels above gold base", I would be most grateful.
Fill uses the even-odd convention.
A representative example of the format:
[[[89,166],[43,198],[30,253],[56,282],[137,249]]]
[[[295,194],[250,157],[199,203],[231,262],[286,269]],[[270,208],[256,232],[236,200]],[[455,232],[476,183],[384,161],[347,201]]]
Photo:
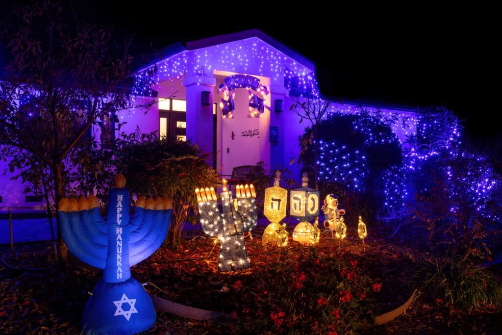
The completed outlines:
[[[309,178],[303,173],[302,187],[290,191],[290,213],[300,223],[293,232],[293,241],[316,244],[319,242],[319,228],[309,221],[319,216],[319,191],[308,187]]]

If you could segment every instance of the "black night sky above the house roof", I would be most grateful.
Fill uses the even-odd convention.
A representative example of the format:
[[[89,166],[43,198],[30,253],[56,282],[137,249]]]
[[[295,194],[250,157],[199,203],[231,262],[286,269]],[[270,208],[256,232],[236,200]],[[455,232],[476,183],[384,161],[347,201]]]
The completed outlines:
[[[133,38],[140,61],[174,42],[260,29],[315,62],[321,93],[410,107],[445,105],[473,139],[502,136],[490,122],[499,109],[500,38],[496,11],[479,8],[342,8],[338,4],[86,1],[91,21]],[[239,8],[247,4],[248,10]],[[309,2],[313,4],[313,2]],[[263,7],[260,7],[263,6]],[[246,14],[250,13],[250,14]],[[496,61],[497,60],[497,61]]]

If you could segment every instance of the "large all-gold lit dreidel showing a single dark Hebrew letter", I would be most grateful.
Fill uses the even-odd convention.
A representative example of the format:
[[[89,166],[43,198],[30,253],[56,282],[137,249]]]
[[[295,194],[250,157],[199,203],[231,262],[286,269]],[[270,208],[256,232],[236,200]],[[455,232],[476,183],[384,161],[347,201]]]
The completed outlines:
[[[280,224],[286,216],[288,190],[279,186],[281,171],[276,171],[274,186],[265,189],[265,205],[263,213],[271,224],[263,232],[262,244],[271,244],[278,247],[288,245],[288,232],[286,224]]]

